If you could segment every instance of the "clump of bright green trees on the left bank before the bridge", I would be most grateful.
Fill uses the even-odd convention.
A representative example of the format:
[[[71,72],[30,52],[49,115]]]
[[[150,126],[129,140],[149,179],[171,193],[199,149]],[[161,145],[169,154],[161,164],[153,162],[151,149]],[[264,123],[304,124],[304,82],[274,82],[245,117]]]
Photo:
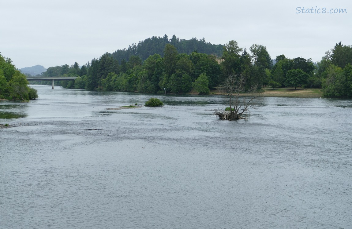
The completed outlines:
[[[27,78],[10,58],[0,53],[0,99],[23,100],[38,98],[37,90],[28,86]]]

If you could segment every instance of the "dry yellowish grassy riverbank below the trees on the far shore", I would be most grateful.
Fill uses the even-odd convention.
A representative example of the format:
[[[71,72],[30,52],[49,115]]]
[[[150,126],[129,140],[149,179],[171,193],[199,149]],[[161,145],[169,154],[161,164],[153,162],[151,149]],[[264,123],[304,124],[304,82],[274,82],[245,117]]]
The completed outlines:
[[[260,93],[260,96],[265,97],[291,97],[291,98],[320,98],[323,95],[322,89],[319,88],[263,88],[265,92]],[[226,94],[218,90],[210,91],[210,94]]]

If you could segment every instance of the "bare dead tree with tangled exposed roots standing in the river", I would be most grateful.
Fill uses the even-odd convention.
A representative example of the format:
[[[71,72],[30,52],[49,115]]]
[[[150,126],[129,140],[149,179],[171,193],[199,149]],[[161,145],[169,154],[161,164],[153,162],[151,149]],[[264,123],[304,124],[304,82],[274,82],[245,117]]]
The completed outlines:
[[[214,110],[214,114],[221,120],[245,119],[246,115],[243,117],[243,114],[247,114],[249,108],[256,109],[251,103],[259,96],[259,93],[256,93],[257,85],[252,85],[245,91],[245,83],[245,77],[242,74],[229,74],[224,83],[219,86],[219,89],[229,97],[230,106],[229,111]]]

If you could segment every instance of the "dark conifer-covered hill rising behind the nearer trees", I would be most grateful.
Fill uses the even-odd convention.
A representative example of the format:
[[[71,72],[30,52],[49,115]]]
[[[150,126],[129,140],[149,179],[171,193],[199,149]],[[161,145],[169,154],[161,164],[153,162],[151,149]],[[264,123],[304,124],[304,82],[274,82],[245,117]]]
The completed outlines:
[[[197,40],[192,38],[190,40],[179,39],[175,35],[168,38],[165,34],[164,37],[151,37],[144,41],[139,41],[138,44],[133,43],[128,48],[117,50],[114,52],[114,59],[119,61],[121,64],[122,59],[128,61],[131,56],[139,56],[140,59],[145,60],[150,55],[159,54],[164,57],[164,49],[166,44],[171,44],[176,47],[178,53],[191,54],[195,50],[199,53],[206,53],[221,57],[222,51],[224,51],[224,45],[212,45],[206,42],[204,38]]]

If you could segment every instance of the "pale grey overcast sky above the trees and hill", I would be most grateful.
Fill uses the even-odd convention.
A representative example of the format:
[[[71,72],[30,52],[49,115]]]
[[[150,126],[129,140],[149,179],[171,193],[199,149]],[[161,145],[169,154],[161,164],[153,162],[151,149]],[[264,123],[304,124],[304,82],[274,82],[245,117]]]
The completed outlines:
[[[346,11],[328,13],[335,8]],[[248,50],[260,44],[272,59],[319,61],[337,42],[352,44],[352,2],[346,0],[0,0],[0,18],[0,52],[17,68],[81,66],[164,34],[212,44],[237,40]]]

